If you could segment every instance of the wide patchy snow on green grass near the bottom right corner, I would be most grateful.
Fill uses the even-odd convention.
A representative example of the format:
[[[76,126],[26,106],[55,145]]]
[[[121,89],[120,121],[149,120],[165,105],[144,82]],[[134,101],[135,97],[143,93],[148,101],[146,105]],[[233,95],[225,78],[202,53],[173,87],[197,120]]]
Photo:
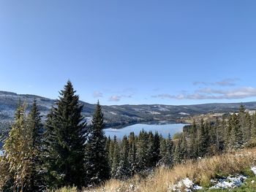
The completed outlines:
[[[222,177],[221,179],[211,180],[213,186],[212,189],[227,189],[227,188],[238,188],[243,185],[244,181],[247,179],[243,174],[238,174],[236,176]]]

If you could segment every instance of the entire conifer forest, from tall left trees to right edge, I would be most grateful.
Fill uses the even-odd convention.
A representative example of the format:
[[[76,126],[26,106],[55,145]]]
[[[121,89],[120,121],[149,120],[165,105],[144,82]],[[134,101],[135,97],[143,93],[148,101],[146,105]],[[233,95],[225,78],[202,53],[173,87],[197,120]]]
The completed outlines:
[[[255,146],[256,115],[239,112],[213,122],[201,120],[184,128],[178,139],[157,132],[133,132],[118,140],[105,137],[102,108],[97,103],[92,125],[71,82],[60,92],[43,124],[37,101],[29,113],[21,101],[0,161],[0,191],[50,191],[64,186],[87,188],[134,174],[145,177],[157,166],[170,168],[188,159]]]

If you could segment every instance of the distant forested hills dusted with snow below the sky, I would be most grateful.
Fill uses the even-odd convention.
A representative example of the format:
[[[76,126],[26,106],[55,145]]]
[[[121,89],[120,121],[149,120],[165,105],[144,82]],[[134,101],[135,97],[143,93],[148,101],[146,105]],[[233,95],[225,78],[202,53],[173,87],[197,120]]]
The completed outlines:
[[[50,107],[56,100],[42,96],[17,94],[0,91],[0,123],[11,122],[18,104],[18,100],[26,101],[28,109],[34,99],[37,99],[39,110],[45,119]],[[91,120],[95,105],[80,101],[83,104],[83,115]],[[246,109],[255,110],[256,102],[243,103]],[[189,115],[200,115],[210,112],[236,112],[241,103],[227,104],[195,104],[195,105],[111,105],[102,106],[107,127],[125,126],[131,123],[147,122],[152,120],[177,121]],[[1,128],[1,127],[0,127]]]

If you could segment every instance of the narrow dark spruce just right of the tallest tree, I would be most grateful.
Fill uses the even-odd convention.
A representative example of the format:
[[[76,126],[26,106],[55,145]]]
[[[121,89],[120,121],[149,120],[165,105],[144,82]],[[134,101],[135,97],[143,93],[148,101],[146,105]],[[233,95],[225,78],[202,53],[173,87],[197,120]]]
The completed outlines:
[[[86,142],[86,180],[88,185],[101,183],[109,178],[108,153],[102,107],[97,103],[92,127]]]

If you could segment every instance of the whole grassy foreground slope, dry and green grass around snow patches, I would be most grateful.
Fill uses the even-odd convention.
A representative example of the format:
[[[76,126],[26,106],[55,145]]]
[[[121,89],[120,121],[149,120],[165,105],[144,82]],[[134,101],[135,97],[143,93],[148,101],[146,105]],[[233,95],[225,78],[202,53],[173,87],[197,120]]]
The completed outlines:
[[[211,158],[187,161],[173,169],[159,168],[146,179],[138,176],[130,180],[110,180],[99,188],[86,191],[138,191],[138,192],[164,192],[173,191],[173,186],[181,180],[191,181],[191,188],[181,185],[177,191],[192,191],[195,186],[202,187],[202,191],[222,191],[222,189],[209,189],[213,185],[212,179],[225,178],[228,175],[242,174],[246,177],[241,186],[233,187],[232,191],[256,191],[255,173],[250,170],[256,164],[256,148],[241,150],[236,153],[216,155]],[[198,187],[197,187],[198,188]],[[193,190],[194,189],[194,190]],[[198,188],[200,189],[200,188]],[[199,190],[200,191],[200,190]],[[231,191],[230,188],[225,191]]]

